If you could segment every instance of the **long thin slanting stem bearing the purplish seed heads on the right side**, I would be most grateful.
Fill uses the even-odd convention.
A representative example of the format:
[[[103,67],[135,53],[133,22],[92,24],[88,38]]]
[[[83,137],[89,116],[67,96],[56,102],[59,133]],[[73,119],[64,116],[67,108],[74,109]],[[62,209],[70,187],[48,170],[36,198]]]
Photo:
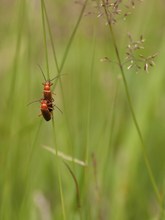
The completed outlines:
[[[122,62],[121,62],[120,55],[119,55],[119,50],[118,50],[118,46],[117,46],[117,43],[116,43],[116,38],[115,38],[115,35],[114,35],[114,32],[113,32],[112,24],[111,24],[111,21],[110,21],[109,16],[108,16],[108,11],[107,11],[107,8],[106,8],[105,0],[102,0],[102,3],[104,5],[104,11],[105,11],[106,19],[107,19],[107,22],[108,22],[109,31],[110,31],[110,34],[111,34],[111,37],[112,37],[112,43],[113,43],[115,53],[116,53],[116,57],[117,57],[117,60],[118,60],[118,63],[119,63],[119,68],[120,68],[120,71],[121,71],[121,75],[122,75],[122,79],[123,79],[123,83],[124,83],[124,87],[125,87],[125,92],[126,92],[126,96],[127,96],[127,100],[128,100],[128,105],[129,105],[130,112],[131,112],[131,115],[132,115],[132,119],[133,119],[135,128],[137,130],[137,133],[138,133],[138,136],[139,136],[139,139],[140,139],[140,142],[141,142],[141,146],[142,146],[142,149],[143,149],[143,156],[144,156],[145,165],[146,165],[146,168],[147,168],[147,171],[148,171],[149,178],[150,178],[151,183],[152,183],[152,187],[155,191],[157,201],[158,201],[158,203],[160,204],[160,206],[162,208],[162,199],[161,199],[161,196],[160,196],[160,193],[159,193],[159,190],[158,190],[158,186],[157,186],[157,183],[156,183],[155,177],[153,175],[153,171],[151,169],[151,165],[150,165],[150,162],[149,162],[149,159],[148,159],[148,156],[147,156],[143,136],[142,136],[139,124],[138,124],[136,116],[135,116],[135,112],[134,112],[134,109],[133,109],[133,105],[132,105],[132,101],[131,101],[127,81],[126,81],[125,74],[124,74],[123,65],[122,65]]]

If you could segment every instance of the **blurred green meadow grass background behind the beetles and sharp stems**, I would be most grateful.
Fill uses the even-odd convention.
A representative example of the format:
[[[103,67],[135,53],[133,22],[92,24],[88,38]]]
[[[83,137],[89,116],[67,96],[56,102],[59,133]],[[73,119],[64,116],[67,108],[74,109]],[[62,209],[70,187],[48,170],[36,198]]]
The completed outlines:
[[[128,2],[128,1],[127,1]],[[45,2],[57,60],[61,65],[82,2]],[[55,128],[40,114],[46,74],[41,4],[38,0],[0,1],[0,219],[159,219],[160,208],[148,177],[139,137],[129,111],[119,68],[101,62],[115,60],[103,16],[88,1],[71,42],[61,84],[54,89]],[[128,9],[129,11],[129,9]],[[149,73],[133,69],[125,74],[135,114],[160,193],[165,192],[165,3],[138,3],[126,21],[114,25],[124,60],[127,33],[143,34],[143,54],[158,52]],[[50,78],[57,75],[48,34]],[[46,74],[47,76],[47,74]],[[63,163],[43,148],[57,148],[88,163],[67,162],[79,185],[77,208],[73,176]],[[62,211],[59,180],[64,209]]]

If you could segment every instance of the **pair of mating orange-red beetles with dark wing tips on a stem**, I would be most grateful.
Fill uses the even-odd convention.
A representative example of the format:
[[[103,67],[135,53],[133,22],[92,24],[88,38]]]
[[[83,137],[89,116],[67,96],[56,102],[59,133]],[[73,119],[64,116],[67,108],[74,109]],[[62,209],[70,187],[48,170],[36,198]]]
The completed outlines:
[[[40,110],[41,110],[41,115],[44,117],[44,119],[46,121],[50,121],[50,119],[53,117],[53,110],[54,107],[56,107],[59,111],[61,111],[55,104],[54,104],[54,99],[52,97],[52,91],[51,91],[51,86],[53,85],[53,83],[51,81],[53,81],[54,79],[56,79],[58,76],[54,77],[51,80],[47,80],[41,67],[39,66],[42,75],[45,79],[45,82],[42,83],[44,86],[44,91],[43,91],[43,98],[34,102],[38,102],[40,101],[41,106],[40,106]],[[31,102],[30,104],[34,103]],[[62,111],[61,111],[62,112]]]

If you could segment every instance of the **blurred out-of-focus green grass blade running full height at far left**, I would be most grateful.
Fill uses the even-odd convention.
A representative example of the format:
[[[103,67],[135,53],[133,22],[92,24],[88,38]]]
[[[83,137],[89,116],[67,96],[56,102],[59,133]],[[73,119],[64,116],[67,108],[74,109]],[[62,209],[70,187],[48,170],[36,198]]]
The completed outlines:
[[[12,66],[12,76],[11,76],[11,82],[10,82],[10,90],[9,95],[6,101],[6,113],[8,112],[9,106],[12,109],[12,114],[8,114],[8,117],[6,118],[6,124],[10,124],[9,130],[8,130],[8,140],[7,140],[7,148],[5,151],[5,162],[4,162],[4,178],[3,178],[3,190],[1,194],[1,205],[0,205],[0,219],[6,219],[6,214],[9,212],[7,211],[10,205],[8,204],[8,201],[11,199],[9,194],[9,186],[12,184],[12,176],[11,173],[11,147],[10,147],[10,140],[13,130],[13,119],[15,116],[15,100],[16,100],[16,83],[17,83],[17,77],[18,77],[18,67],[19,67],[19,55],[21,50],[21,42],[22,42],[22,34],[23,34],[23,28],[24,28],[24,16],[26,11],[26,4],[25,1],[19,2],[19,9],[17,12],[18,14],[18,21],[17,21],[17,36],[16,36],[16,46],[15,46],[15,53],[14,53],[14,60],[13,60],[13,66]]]

